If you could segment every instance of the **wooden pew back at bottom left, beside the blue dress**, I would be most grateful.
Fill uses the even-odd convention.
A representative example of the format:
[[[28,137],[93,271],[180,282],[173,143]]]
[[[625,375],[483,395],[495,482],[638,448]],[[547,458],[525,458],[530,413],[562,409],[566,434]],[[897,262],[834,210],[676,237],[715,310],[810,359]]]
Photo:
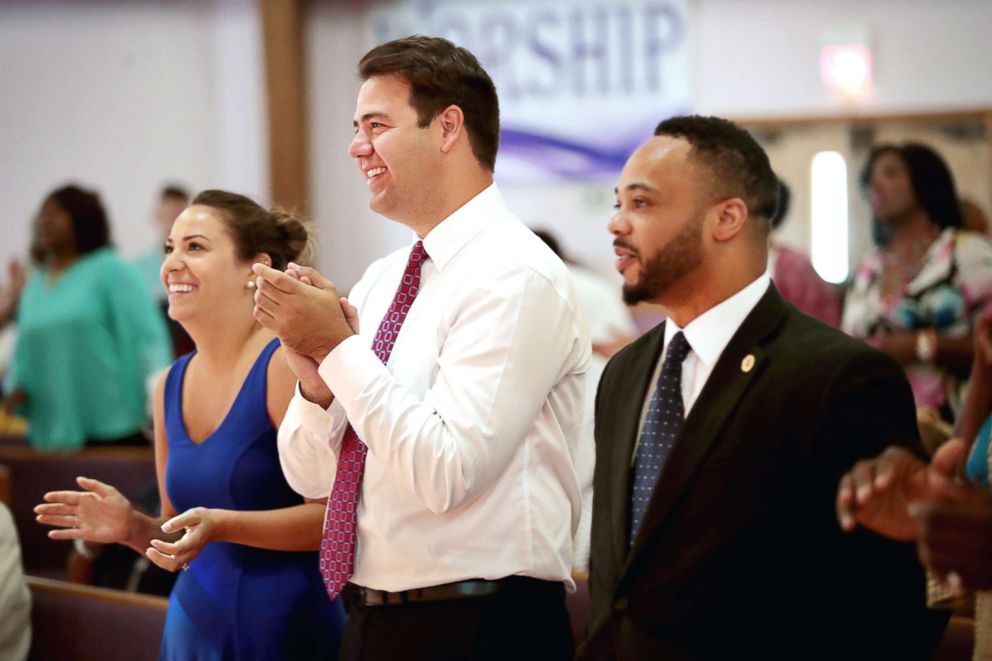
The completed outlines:
[[[154,661],[169,600],[27,577],[31,589],[29,660]]]

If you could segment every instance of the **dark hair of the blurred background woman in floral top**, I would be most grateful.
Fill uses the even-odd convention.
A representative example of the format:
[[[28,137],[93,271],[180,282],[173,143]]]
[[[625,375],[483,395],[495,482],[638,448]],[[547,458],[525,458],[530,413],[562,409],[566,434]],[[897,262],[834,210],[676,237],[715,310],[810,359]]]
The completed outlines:
[[[895,154],[909,170],[909,182],[913,186],[916,200],[923,207],[930,222],[938,227],[964,227],[964,216],[954,187],[954,177],[947,163],[936,151],[916,142],[902,145],[884,144],[873,147],[868,154],[865,167],[861,170],[861,189],[867,192],[871,183],[871,171],[875,162],[884,154]],[[879,223],[876,221],[875,225]],[[885,229],[875,228],[876,243],[885,244]]]

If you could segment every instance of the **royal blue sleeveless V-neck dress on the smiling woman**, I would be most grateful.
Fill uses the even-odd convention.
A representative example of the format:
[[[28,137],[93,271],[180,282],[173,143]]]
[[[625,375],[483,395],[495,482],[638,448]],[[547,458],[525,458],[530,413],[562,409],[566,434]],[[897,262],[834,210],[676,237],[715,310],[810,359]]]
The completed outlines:
[[[192,507],[271,510],[303,499],[279,466],[266,407],[273,340],[255,361],[231,410],[201,444],[186,433],[182,386],[189,354],[165,382],[169,460],[165,486],[177,512]],[[204,547],[169,600],[160,658],[189,661],[335,658],[344,615],[324,591],[316,552]]]

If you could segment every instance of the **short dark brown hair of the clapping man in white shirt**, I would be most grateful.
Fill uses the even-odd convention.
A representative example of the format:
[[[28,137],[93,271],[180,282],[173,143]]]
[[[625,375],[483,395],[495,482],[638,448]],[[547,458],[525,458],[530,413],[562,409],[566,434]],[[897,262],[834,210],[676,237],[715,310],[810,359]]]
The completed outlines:
[[[499,149],[496,86],[479,60],[447,39],[412,36],[376,46],[358,63],[358,77],[398,76],[410,85],[410,105],[420,128],[448,106],[465,115],[476,160],[490,172]]]

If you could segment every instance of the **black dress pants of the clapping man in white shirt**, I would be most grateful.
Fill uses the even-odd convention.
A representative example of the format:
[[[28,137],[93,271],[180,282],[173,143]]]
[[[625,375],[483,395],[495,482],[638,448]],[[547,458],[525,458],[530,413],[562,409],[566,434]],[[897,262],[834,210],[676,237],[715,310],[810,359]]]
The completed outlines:
[[[565,661],[573,656],[561,583],[511,576],[485,597],[400,606],[366,606],[351,584],[342,596],[348,612],[343,661]]]

